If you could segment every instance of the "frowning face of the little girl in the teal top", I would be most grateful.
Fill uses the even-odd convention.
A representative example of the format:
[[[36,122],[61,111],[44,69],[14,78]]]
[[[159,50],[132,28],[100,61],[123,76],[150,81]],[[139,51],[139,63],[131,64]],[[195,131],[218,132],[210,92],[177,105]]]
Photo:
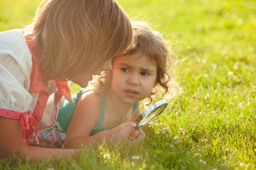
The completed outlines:
[[[125,103],[136,103],[148,97],[156,79],[157,64],[147,55],[139,52],[114,59],[111,88]]]

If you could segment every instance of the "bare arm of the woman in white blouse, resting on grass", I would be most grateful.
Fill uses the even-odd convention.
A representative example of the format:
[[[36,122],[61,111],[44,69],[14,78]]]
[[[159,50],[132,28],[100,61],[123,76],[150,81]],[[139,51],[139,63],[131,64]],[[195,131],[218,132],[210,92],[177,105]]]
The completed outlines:
[[[1,157],[8,157],[15,154],[26,161],[47,158],[62,158],[75,154],[74,149],[53,149],[40,148],[25,145],[23,142],[23,129],[19,120],[0,117],[0,154]]]

